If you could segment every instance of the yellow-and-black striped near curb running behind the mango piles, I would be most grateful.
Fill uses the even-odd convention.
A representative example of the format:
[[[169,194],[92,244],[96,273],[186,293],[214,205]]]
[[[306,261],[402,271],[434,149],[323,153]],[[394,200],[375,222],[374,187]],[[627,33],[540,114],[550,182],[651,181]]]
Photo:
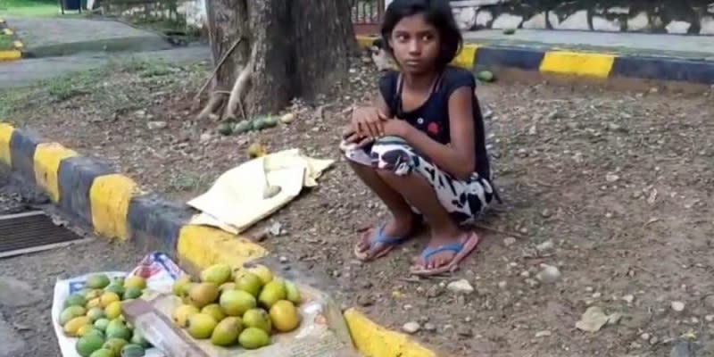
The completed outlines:
[[[186,206],[143,192],[105,162],[3,122],[0,164],[41,188],[62,212],[93,228],[100,237],[172,253],[189,271],[215,263],[240,266],[270,254],[245,237],[190,225],[187,222],[195,212]],[[438,356],[409,336],[379,326],[355,308],[345,311],[345,320],[354,345],[364,356]]]

